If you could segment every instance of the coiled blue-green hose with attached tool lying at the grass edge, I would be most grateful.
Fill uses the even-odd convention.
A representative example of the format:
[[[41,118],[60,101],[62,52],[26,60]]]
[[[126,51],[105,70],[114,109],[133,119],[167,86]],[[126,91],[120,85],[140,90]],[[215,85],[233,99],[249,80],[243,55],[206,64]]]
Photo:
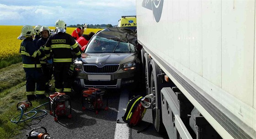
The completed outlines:
[[[18,124],[18,123],[24,122],[24,121],[26,121],[26,120],[28,120],[28,119],[40,119],[40,118],[45,117],[46,114],[47,114],[47,111],[42,110],[42,109],[37,109],[37,108],[39,108],[39,107],[41,107],[41,106],[43,106],[43,105],[45,105],[45,104],[48,104],[48,102],[46,102],[46,103],[44,103],[44,104],[42,104],[42,105],[39,105],[39,106],[37,106],[36,108],[34,108],[34,109],[32,109],[32,110],[30,110],[30,111],[24,113],[24,111],[25,111],[27,108],[29,108],[29,107],[32,106],[32,103],[31,103],[30,101],[28,101],[28,100],[19,102],[19,103],[17,104],[17,110],[20,110],[20,111],[21,111],[21,114],[18,115],[18,116],[13,117],[13,118],[11,119],[11,122],[12,122],[12,123],[15,123],[15,124]],[[36,109],[37,109],[37,110],[36,110]],[[39,113],[42,113],[42,114],[40,114],[40,116],[36,116],[36,115],[39,114]],[[26,118],[23,118],[23,119],[22,119],[23,116],[26,116]]]

